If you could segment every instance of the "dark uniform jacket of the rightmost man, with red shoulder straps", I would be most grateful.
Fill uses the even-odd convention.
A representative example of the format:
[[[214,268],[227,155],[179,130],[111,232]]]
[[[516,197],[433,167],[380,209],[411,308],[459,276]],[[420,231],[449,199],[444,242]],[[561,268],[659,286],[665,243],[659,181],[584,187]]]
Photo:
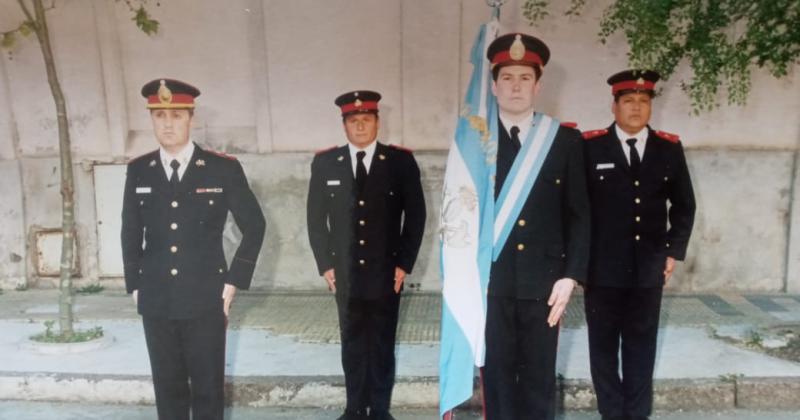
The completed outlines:
[[[686,256],[695,201],[683,147],[677,136],[648,130],[638,178],[613,124],[584,134],[593,228],[590,287],[660,287],[666,258]]]

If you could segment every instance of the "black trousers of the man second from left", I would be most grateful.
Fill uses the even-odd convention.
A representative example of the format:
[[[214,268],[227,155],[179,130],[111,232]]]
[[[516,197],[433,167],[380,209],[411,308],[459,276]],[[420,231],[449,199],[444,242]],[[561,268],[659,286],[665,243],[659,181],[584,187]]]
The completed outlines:
[[[400,295],[337,299],[347,410],[386,412],[394,387]]]

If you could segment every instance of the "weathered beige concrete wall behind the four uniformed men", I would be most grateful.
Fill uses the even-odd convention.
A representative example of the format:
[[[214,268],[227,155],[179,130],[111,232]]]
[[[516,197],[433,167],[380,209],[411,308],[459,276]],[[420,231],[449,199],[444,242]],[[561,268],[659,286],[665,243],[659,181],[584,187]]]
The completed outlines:
[[[503,7],[505,30],[548,43],[537,108],[582,129],[611,121],[605,79],[626,65],[622,37],[597,41],[608,4],[583,16],[527,27],[520,0]],[[375,89],[380,139],[417,150],[429,208],[419,266],[409,280],[438,288],[438,224],[445,150],[469,78],[468,54],[490,10],[483,1],[171,0],[150,2],[158,35],[142,34],[118,2],[56,0],[48,12],[55,58],[68,100],[77,186],[81,281],[97,281],[98,221],[93,166],[124,163],[155,147],[139,89],[158,77],[196,84],[193,137],[236,154],[268,220],[259,288],[321,286],[308,250],[304,207],[311,151],[343,144],[333,99]],[[21,19],[0,0],[0,30]],[[749,102],[702,116],[689,113],[682,67],[662,84],[653,125],[682,136],[699,212],[681,290],[800,292],[800,72],[782,80],[755,72]],[[41,54],[34,39],[0,57],[0,285],[46,286],[32,266],[39,228],[60,225],[57,132]],[[107,217],[105,217],[107,219]],[[233,244],[236,230],[226,240]],[[107,242],[107,241],[104,241]],[[110,284],[118,279],[102,278]]]

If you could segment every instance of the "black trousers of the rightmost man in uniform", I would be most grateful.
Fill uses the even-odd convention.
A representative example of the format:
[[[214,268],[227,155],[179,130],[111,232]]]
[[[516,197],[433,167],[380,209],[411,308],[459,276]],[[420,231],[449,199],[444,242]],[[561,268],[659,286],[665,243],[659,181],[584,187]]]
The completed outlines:
[[[597,408],[604,416],[646,417],[653,409],[661,295],[661,287],[586,290],[589,361]]]

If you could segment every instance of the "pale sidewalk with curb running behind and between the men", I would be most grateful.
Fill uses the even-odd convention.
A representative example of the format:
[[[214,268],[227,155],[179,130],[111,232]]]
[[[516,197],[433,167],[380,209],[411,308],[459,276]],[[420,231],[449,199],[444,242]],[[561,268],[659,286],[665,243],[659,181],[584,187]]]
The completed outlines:
[[[47,355],[27,337],[55,319],[57,291],[0,295],[0,399],[152,403],[141,322],[122,292],[77,296],[79,328],[102,326],[105,347]],[[582,296],[570,303],[557,370],[566,409],[592,409]],[[396,407],[438,404],[438,295],[403,299]],[[771,328],[800,323],[800,296],[665,296],[656,364],[656,408],[800,408],[800,364],[742,342],[769,344]],[[721,337],[720,337],[721,336]],[[739,344],[737,344],[739,342]],[[240,293],[228,332],[226,373],[238,406],[344,404],[335,304],[328,294]],[[475,401],[478,401],[477,399]]]

